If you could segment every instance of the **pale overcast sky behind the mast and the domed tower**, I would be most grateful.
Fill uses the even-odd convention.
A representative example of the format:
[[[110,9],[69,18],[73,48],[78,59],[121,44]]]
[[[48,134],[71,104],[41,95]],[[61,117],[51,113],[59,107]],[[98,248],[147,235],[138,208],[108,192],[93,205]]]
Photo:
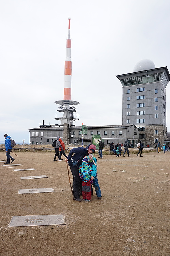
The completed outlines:
[[[30,128],[60,124],[68,18],[77,126],[122,124],[116,75],[150,59],[170,72],[168,0],[0,0],[0,142],[29,143]],[[166,88],[170,132],[170,83]]]

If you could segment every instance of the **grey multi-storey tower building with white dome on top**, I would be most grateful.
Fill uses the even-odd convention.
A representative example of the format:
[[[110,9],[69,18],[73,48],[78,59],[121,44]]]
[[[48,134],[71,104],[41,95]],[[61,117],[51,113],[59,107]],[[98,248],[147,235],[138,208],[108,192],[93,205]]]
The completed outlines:
[[[151,60],[141,60],[133,73],[116,76],[123,86],[122,125],[139,128],[144,145],[164,144],[166,127],[167,67],[155,68]],[[135,135],[134,131],[134,135]],[[135,145],[135,141],[132,140]]]

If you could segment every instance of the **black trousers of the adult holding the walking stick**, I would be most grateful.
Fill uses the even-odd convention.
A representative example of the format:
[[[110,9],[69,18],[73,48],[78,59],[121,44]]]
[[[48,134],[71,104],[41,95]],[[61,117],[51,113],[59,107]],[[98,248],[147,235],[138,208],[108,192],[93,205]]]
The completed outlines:
[[[79,168],[77,166],[70,166],[73,175],[73,193],[74,197],[78,198],[82,194],[82,180],[79,177]]]

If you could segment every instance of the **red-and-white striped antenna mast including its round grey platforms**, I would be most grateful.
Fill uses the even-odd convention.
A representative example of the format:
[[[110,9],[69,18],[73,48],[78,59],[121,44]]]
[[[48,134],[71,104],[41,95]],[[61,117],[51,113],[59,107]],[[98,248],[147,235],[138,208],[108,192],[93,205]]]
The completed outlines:
[[[77,112],[73,105],[78,105],[78,101],[71,100],[71,39],[70,39],[70,19],[68,19],[68,39],[66,45],[66,60],[64,65],[64,99],[55,101],[60,107],[57,111],[63,112],[63,117],[56,117],[55,120],[61,120],[61,124],[72,123],[79,120],[79,116],[74,117],[74,112]]]

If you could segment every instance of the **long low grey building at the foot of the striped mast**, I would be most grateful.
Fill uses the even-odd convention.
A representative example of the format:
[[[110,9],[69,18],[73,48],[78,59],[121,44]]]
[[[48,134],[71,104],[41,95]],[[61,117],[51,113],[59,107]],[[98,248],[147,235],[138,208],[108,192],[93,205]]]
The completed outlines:
[[[66,125],[66,126],[65,126]],[[64,125],[40,125],[38,128],[29,129],[30,144],[45,145],[52,144],[57,136],[60,136],[65,144],[82,144],[82,126]],[[67,133],[68,132],[68,133]],[[135,125],[106,125],[106,126],[88,126],[87,134],[83,135],[83,145],[88,145],[92,141],[93,135],[99,135],[105,145],[113,142],[114,144],[125,143],[128,139],[134,147],[138,143],[139,128]],[[67,141],[67,138],[69,141]],[[144,145],[145,146],[145,145]]]

